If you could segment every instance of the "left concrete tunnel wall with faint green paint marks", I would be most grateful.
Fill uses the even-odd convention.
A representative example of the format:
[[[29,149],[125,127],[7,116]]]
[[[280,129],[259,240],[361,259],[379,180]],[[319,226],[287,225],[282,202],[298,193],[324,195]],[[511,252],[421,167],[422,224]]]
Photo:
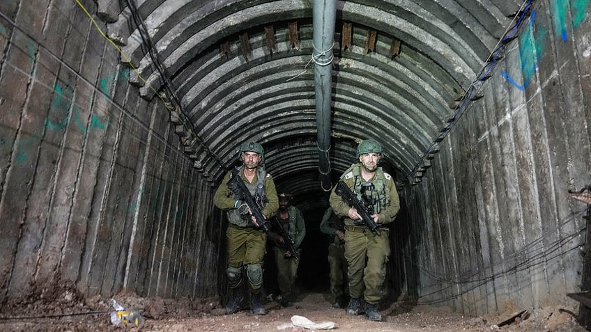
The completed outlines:
[[[166,106],[75,2],[0,10],[0,299],[215,294],[220,213]]]

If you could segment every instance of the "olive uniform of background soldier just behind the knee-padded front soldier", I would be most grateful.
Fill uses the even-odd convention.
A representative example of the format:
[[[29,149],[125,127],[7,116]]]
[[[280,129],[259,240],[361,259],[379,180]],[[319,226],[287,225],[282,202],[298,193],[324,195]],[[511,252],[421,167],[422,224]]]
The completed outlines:
[[[277,220],[271,223],[271,231],[269,232],[269,239],[273,241],[273,253],[275,253],[275,262],[277,263],[277,283],[283,299],[291,301],[291,297],[295,293],[294,287],[296,285],[296,278],[298,277],[298,266],[300,265],[300,258],[291,257],[286,258],[285,253],[289,251],[289,246],[278,243],[281,235],[281,228],[277,226],[277,222],[282,223],[282,228],[287,232],[289,237],[293,239],[293,246],[299,250],[304,237],[306,236],[306,223],[302,212],[292,205],[287,207],[288,219],[281,219],[279,211],[277,212]],[[287,241],[284,237],[284,241]]]

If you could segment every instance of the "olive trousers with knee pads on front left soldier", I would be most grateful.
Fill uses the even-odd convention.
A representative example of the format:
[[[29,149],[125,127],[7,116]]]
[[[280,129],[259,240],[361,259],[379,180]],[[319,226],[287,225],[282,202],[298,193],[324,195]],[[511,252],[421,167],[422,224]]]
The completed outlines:
[[[228,240],[228,269],[238,274],[229,278],[231,289],[242,285],[243,267],[247,268],[250,290],[256,294],[263,286],[263,257],[265,256],[267,235],[254,228],[242,228],[230,224],[226,232]]]

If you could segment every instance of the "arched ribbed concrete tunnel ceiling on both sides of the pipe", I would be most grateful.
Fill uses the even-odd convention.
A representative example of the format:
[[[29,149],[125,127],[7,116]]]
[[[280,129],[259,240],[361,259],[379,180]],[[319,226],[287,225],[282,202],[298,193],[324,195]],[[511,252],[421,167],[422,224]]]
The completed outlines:
[[[106,19],[109,37],[137,68],[131,79],[142,97],[158,91],[178,104],[171,121],[199,171],[219,182],[240,143],[255,140],[278,188],[321,191],[313,1],[121,2],[120,13]],[[385,167],[404,179],[522,2],[337,1],[333,173],[355,160],[356,143],[376,138]]]

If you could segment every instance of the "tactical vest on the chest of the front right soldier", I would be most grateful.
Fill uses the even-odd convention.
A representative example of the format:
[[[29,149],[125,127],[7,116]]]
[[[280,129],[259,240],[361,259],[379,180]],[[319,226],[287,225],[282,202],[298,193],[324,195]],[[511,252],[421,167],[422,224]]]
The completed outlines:
[[[371,214],[378,214],[390,206],[390,188],[388,182],[392,179],[390,174],[385,173],[381,167],[378,167],[374,178],[370,182],[366,182],[361,177],[361,164],[353,164],[345,171],[342,179],[353,179],[354,184],[351,189],[358,200],[365,203]],[[373,185],[371,185],[373,184]]]

